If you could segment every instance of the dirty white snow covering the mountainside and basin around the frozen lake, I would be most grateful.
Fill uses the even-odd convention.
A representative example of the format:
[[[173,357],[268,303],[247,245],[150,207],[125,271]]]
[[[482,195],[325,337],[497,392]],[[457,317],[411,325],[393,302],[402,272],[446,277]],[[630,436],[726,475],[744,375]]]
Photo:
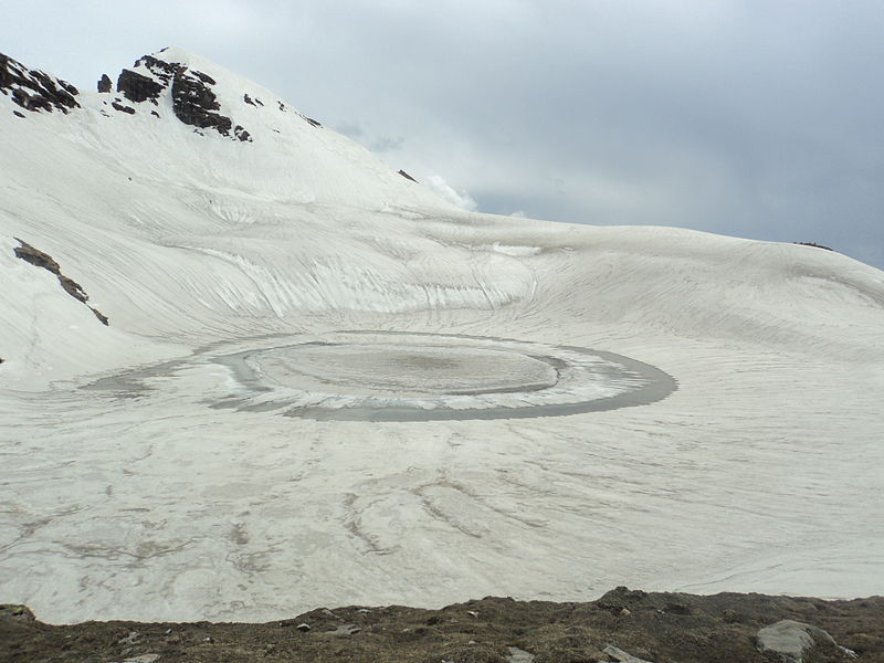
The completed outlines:
[[[78,621],[621,583],[884,592],[881,271],[463,212],[178,49],[107,83],[0,59],[0,600]],[[538,357],[561,378],[590,348],[677,390],[538,419],[536,386],[476,387],[478,418],[286,417],[271,396],[303,367],[254,359],[284,376],[255,386],[235,357],[295,343],[401,345],[459,390],[504,355],[495,380],[545,376]],[[345,364],[312,383],[364,398]],[[420,407],[466,407],[454,391]]]

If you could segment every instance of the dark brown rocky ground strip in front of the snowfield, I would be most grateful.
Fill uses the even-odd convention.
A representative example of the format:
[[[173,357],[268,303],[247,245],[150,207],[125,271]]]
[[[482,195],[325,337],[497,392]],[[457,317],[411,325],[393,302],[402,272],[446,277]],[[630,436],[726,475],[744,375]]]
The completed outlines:
[[[884,662],[884,597],[648,593],[590,603],[485,598],[422,610],[320,608],[255,623],[52,625],[0,606],[0,661],[29,663]]]

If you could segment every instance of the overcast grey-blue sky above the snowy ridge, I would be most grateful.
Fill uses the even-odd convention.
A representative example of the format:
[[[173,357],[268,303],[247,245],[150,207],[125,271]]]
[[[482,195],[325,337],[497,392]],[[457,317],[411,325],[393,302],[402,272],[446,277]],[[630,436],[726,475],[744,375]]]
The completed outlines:
[[[478,211],[884,267],[882,0],[4,0],[2,17],[0,51],[84,87],[162,46],[199,53]]]

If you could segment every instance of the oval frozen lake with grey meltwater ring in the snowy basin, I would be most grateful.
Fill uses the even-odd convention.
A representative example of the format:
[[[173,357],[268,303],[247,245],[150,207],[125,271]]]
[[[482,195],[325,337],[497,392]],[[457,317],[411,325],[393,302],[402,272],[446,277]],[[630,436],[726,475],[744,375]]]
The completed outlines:
[[[621,355],[477,336],[339,333],[211,360],[236,385],[215,407],[319,420],[555,417],[646,404],[676,388]]]

